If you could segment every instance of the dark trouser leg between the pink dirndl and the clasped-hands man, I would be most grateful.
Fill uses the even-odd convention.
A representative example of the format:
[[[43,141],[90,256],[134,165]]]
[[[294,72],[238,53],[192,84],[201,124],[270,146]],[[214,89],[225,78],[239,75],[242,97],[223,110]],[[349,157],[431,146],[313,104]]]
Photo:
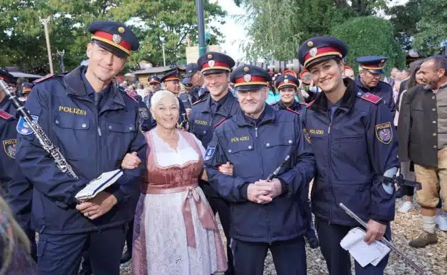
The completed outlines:
[[[235,274],[235,267],[233,265],[233,254],[230,248],[230,205],[224,199],[222,199],[214,189],[212,189],[208,182],[201,180],[200,187],[202,188],[202,190],[204,190],[206,199],[208,199],[208,202],[210,203],[210,206],[212,208],[212,212],[214,212],[214,214],[219,213],[219,219],[223,228],[223,233],[226,237],[228,270],[225,272],[225,274]]]

